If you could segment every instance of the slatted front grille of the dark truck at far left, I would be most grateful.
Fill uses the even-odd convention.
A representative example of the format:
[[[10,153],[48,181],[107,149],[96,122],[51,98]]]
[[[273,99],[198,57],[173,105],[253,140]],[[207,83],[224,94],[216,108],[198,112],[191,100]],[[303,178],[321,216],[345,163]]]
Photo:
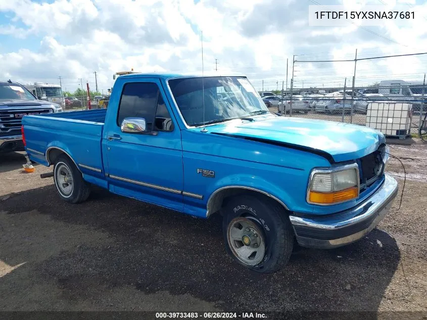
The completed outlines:
[[[21,122],[24,115],[52,113],[53,110],[39,108],[0,109],[0,136],[21,133]]]

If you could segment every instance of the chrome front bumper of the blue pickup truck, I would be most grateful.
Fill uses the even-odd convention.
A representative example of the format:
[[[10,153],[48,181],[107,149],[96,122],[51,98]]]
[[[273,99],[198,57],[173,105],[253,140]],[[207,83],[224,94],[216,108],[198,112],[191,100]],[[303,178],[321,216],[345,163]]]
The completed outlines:
[[[361,239],[389,212],[397,192],[397,181],[386,173],[383,185],[354,208],[321,216],[291,215],[298,244],[330,249]]]

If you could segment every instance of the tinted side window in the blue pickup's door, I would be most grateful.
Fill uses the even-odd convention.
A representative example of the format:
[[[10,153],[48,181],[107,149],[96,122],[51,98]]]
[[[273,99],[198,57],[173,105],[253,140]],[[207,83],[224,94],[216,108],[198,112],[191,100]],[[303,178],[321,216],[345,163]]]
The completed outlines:
[[[152,82],[131,82],[123,87],[117,125],[127,117],[145,118],[147,129],[153,128],[159,97],[159,87]]]

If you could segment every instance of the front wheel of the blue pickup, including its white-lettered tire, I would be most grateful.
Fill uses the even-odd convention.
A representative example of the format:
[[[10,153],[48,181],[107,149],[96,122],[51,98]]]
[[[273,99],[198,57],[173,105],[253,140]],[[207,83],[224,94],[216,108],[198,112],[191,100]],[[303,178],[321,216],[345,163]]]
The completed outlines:
[[[263,195],[245,194],[228,199],[222,213],[225,248],[235,262],[260,273],[272,273],[288,263],[294,232],[280,204]]]

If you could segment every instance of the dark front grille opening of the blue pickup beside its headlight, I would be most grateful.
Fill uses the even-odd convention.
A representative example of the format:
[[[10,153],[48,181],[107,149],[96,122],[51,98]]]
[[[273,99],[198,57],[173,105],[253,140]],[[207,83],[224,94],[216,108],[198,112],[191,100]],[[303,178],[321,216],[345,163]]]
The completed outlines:
[[[384,163],[382,151],[383,148],[380,147],[376,151],[357,160],[361,190],[372,185],[383,174]]]

